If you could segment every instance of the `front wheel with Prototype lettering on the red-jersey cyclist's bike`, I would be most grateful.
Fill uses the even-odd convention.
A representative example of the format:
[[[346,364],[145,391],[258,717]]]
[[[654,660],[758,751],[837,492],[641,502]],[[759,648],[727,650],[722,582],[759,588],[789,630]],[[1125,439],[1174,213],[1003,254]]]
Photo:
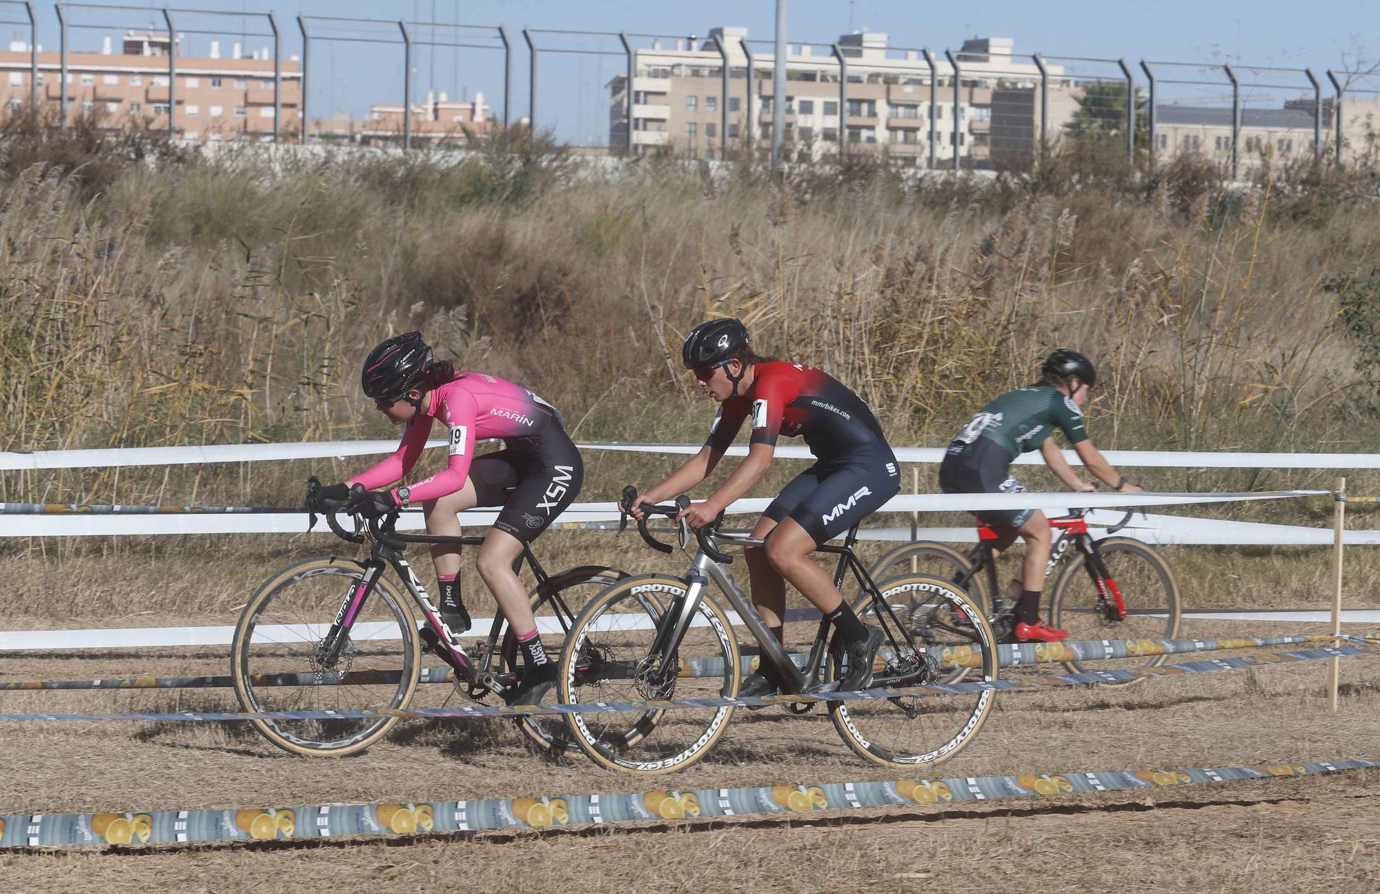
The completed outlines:
[[[741,658],[729,617],[705,593],[680,643],[675,668],[649,658],[662,604],[686,595],[686,582],[661,574],[631,577],[585,606],[560,659],[560,701],[633,702],[716,698],[738,693]],[[704,757],[733,717],[731,706],[629,709],[566,716],[570,734],[595,763],[657,774]]]

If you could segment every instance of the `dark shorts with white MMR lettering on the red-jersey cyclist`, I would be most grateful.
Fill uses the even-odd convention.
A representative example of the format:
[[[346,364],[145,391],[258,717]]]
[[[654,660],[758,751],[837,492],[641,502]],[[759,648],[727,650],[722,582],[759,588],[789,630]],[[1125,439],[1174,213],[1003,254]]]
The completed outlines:
[[[836,459],[821,459],[795,476],[762,515],[787,516],[820,546],[882,508],[901,490],[896,455],[885,441],[854,447]]]

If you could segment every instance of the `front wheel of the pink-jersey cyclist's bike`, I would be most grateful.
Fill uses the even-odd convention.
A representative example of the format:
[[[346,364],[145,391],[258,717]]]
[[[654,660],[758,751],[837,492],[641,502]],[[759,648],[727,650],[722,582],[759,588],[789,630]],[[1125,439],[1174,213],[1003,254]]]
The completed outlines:
[[[327,666],[319,654],[322,637],[363,571],[351,559],[309,559],[259,586],[244,606],[230,646],[235,694],[246,711],[407,706],[421,666],[417,624],[385,578],[359,610],[338,659]],[[397,717],[253,723],[264,738],[294,755],[339,757],[368,748]]]

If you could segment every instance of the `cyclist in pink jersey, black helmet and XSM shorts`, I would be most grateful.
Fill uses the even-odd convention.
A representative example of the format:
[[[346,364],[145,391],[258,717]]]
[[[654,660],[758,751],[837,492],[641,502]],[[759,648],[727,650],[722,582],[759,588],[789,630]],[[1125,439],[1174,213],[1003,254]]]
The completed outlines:
[[[566,435],[560,413],[520,385],[483,372],[457,372],[432,357],[421,332],[389,338],[364,361],[364,395],[392,421],[404,425],[397,451],[341,484],[322,490],[345,499],[352,484],[370,491],[366,505],[391,512],[421,505],[431,534],[460,535],[457,513],[475,506],[502,506],[479,548],[479,575],[494,593],[523,650],[527,673],[515,701],[537,698],[556,679],[556,664],[537,633],[527,592],[513,571],[523,544],[530,544],[580,493],[584,464]],[[400,481],[417,464],[433,424],[446,426],[446,468],[413,486],[379,490]],[[477,440],[497,437],[504,448],[475,455]],[[460,546],[431,548],[440,589],[440,618],[453,632],[469,629],[460,595]]]

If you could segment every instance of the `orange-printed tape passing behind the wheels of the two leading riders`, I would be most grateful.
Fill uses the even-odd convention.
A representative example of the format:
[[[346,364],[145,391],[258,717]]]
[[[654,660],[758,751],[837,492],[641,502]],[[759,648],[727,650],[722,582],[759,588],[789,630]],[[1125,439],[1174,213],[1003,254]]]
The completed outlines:
[[[1380,639],[1380,630],[1374,633],[1340,637],[1325,635],[1308,636],[1256,636],[1239,639],[1209,639],[1209,640],[1078,640],[1071,643],[1024,643],[1000,644],[998,661],[1002,668],[1018,668],[1041,664],[1063,664],[1068,661],[1103,661],[1114,658],[1140,658],[1154,655],[1179,655],[1185,653],[1223,651],[1234,648],[1261,648],[1274,646],[1301,646],[1304,643],[1330,643],[1336,639],[1351,642],[1372,642]],[[759,658],[755,653],[742,651],[748,658],[747,666],[741,669],[744,675],[758,669]],[[890,658],[890,650],[883,648],[882,661]],[[795,653],[791,655],[798,666],[805,666],[809,655]],[[947,666],[940,657],[941,666]],[[882,669],[879,666],[878,669]],[[346,670],[345,673],[273,673],[255,675],[251,677],[254,686],[370,686],[397,683],[400,670]],[[682,677],[719,676],[723,673],[722,658],[684,658],[680,661]],[[454,670],[448,668],[424,668],[421,683],[453,683]],[[229,676],[178,676],[178,677],[109,677],[98,680],[0,680],[3,691],[36,691],[36,690],[112,690],[112,688],[230,688],[235,682]]]

